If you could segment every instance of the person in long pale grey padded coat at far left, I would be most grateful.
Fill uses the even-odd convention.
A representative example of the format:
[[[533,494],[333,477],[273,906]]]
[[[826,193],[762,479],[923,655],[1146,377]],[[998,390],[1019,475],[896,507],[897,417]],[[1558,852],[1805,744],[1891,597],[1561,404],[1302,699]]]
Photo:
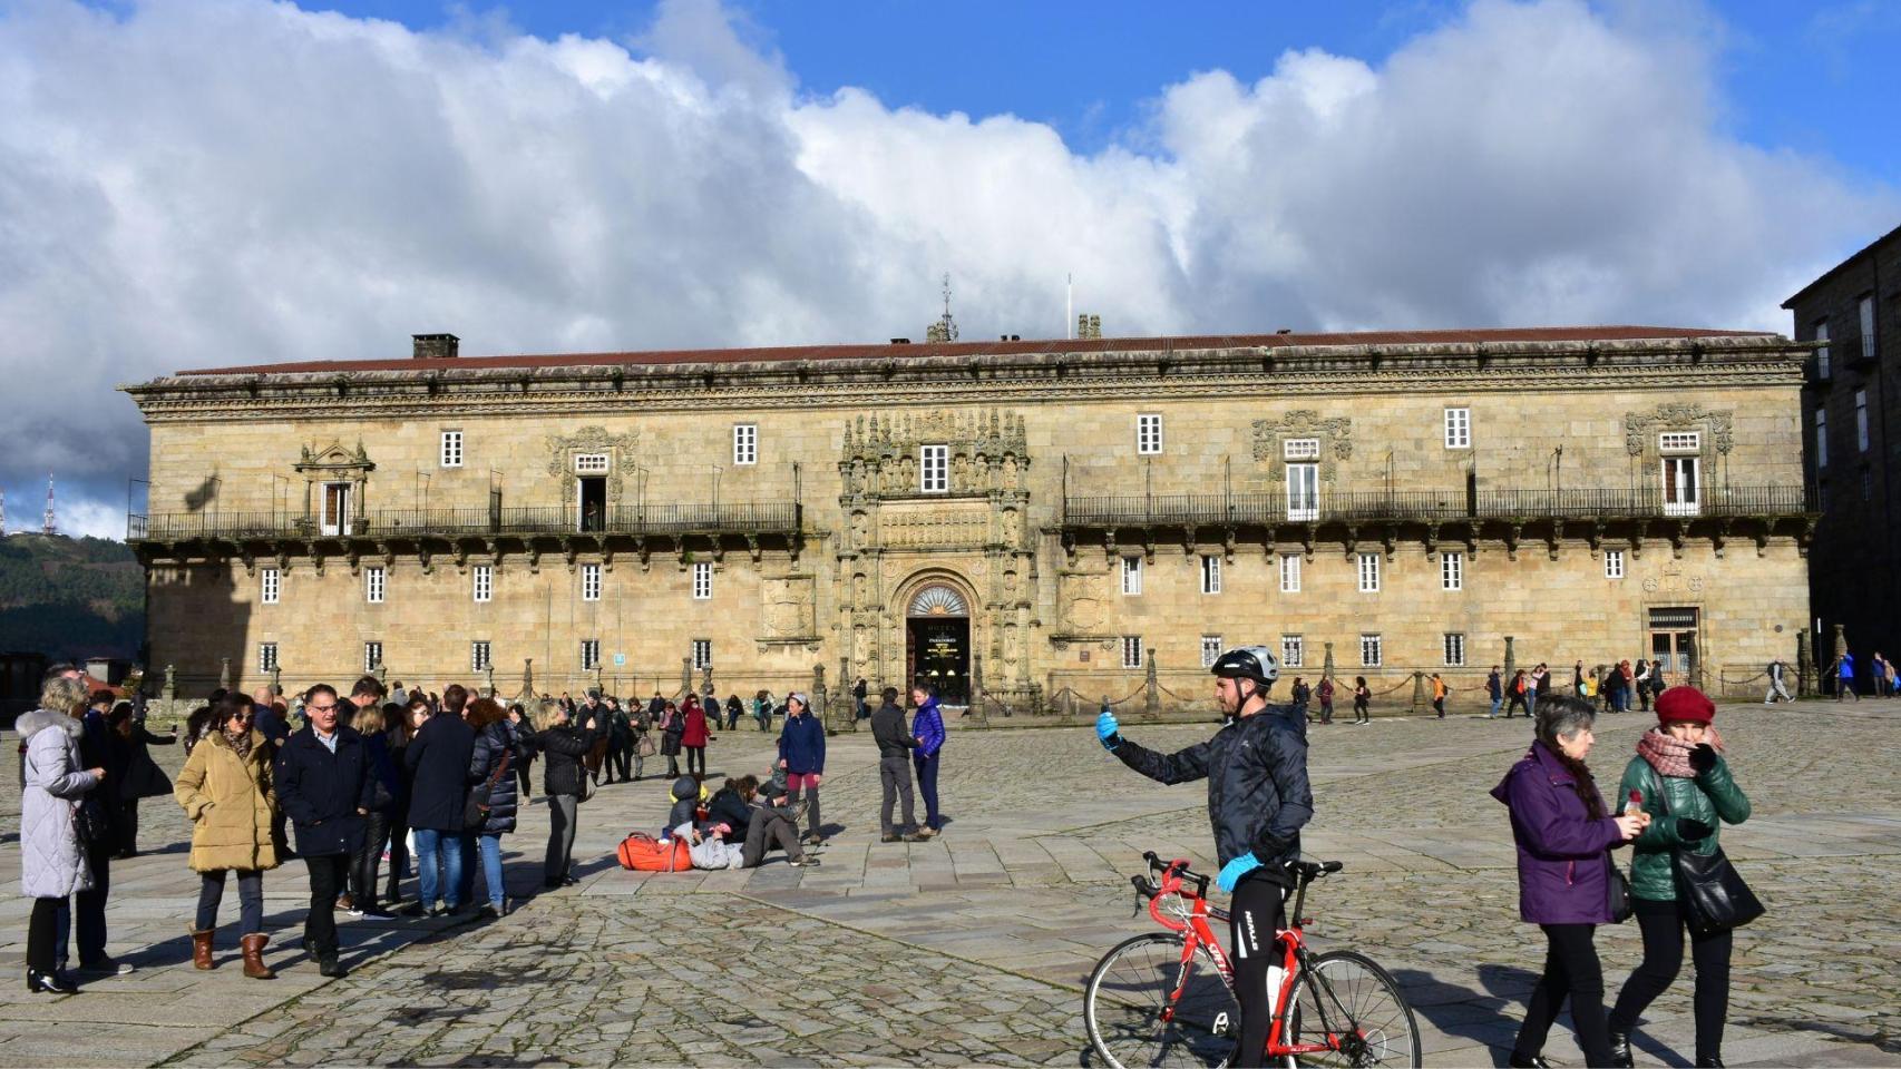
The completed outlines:
[[[19,796],[19,885],[32,898],[27,921],[27,991],[72,995],[78,987],[59,970],[55,944],[63,942],[63,917],[72,894],[93,887],[86,858],[87,822],[80,813],[86,792],[105,782],[105,765],[80,763],[86,727],[86,684],[51,676],[40,687],[40,708],[23,714],[13,729],[27,754]]]

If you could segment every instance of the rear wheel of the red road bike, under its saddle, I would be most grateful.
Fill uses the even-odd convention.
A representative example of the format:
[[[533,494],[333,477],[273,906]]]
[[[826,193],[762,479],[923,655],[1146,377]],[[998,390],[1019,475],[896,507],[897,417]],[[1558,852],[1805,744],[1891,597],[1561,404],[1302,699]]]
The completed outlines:
[[[1399,984],[1363,953],[1336,949],[1308,961],[1295,980],[1281,1029],[1287,1065],[1420,1065],[1420,1025]]]

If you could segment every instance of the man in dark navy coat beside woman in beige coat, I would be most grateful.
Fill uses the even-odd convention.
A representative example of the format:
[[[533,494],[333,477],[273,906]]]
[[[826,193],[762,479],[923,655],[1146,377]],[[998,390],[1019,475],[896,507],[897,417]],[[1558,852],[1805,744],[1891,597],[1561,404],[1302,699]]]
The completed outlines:
[[[363,737],[340,725],[336,689],[304,691],[310,725],[278,754],[278,803],[297,828],[297,854],[310,868],[310,915],[304,949],[317,972],[342,976],[336,965],[336,894],[350,879],[350,856],[363,847],[363,816],[374,803]]]

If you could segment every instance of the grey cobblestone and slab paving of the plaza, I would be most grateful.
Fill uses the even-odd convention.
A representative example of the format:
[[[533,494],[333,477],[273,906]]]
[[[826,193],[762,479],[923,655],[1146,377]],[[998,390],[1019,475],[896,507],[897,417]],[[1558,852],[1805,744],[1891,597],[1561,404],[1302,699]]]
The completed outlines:
[[[1487,790],[1523,752],[1519,722],[1314,725],[1308,856],[1321,947],[1354,946],[1405,985],[1428,1065],[1502,1065],[1542,965],[1517,921],[1511,835]],[[1622,767],[1650,716],[1601,722],[1593,765]],[[1755,816],[1724,847],[1770,906],[1736,940],[1730,1065],[1901,1065],[1901,703],[1726,706],[1719,723]],[[190,966],[196,877],[169,799],[144,803],[146,854],[112,870],[110,951],[131,976],[74,997],[0,985],[8,1065],[1091,1065],[1082,984],[1146,930],[1127,875],[1141,853],[1209,862],[1201,784],[1143,780],[1085,729],[958,731],[941,780],[949,824],[922,845],[876,841],[871,737],[833,739],[823,866],[637,875],[610,858],[656,830],[665,782],[610,786],[582,809],[582,885],[534,898],[546,805],[504,839],[521,908],[500,921],[348,921],[344,980],[297,949],[298,862],[266,875],[272,984],[240,974],[230,928],[215,972]],[[1211,725],[1127,725],[1182,746]],[[719,775],[762,771],[770,735],[711,746]],[[177,748],[156,748],[171,771]],[[648,771],[656,761],[648,761]],[[6,763],[6,777],[15,777]],[[536,788],[540,775],[536,773]],[[17,834],[17,784],[4,832]],[[15,881],[17,849],[0,853]],[[8,898],[0,953],[19,976],[27,900]],[[230,910],[228,910],[230,911]],[[1599,932],[1614,991],[1635,925]],[[1686,966],[1688,970],[1688,966]],[[1633,1037],[1639,1065],[1688,1065],[1690,982]],[[1582,1058],[1561,1025],[1547,1054]]]

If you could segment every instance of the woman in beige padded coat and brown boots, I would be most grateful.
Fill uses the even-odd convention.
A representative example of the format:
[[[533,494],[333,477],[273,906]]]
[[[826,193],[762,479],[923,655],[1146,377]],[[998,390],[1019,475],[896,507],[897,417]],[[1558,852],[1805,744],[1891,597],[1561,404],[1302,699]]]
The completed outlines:
[[[171,792],[192,820],[192,872],[200,873],[192,965],[211,968],[211,934],[219,925],[224,877],[238,872],[243,974],[274,980],[264,966],[264,870],[278,868],[272,824],[278,796],[270,782],[270,744],[251,727],[251,699],[226,695],[215,706],[215,729],[192,748]]]

